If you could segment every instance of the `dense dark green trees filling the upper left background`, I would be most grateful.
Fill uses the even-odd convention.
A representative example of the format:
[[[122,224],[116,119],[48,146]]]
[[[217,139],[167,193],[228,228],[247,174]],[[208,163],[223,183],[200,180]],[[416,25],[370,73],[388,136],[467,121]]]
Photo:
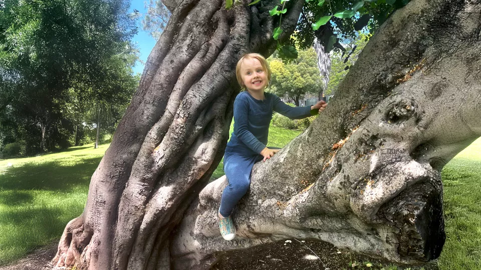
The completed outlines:
[[[0,115],[7,119],[0,132],[12,134],[7,130],[14,122],[22,130],[4,143],[24,141],[30,154],[65,148],[77,143],[92,100],[111,103],[122,96],[119,105],[126,106],[137,85],[128,1],[2,3]]]

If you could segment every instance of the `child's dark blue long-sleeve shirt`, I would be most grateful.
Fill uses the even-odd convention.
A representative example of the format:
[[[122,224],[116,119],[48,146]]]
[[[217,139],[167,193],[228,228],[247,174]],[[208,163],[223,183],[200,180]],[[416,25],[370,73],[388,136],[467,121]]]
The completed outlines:
[[[273,93],[264,92],[264,95],[266,99],[259,100],[248,91],[237,94],[234,100],[234,131],[226,150],[233,147],[261,153],[267,145],[273,111],[291,119],[311,116],[311,106],[291,107]]]

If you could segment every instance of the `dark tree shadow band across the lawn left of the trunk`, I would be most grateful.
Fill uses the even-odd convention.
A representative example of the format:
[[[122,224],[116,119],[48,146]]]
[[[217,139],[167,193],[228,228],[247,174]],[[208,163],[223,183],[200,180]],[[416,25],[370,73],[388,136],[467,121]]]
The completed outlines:
[[[82,159],[75,165],[64,165],[60,161],[40,164],[25,163],[10,167],[0,175],[0,188],[3,190],[71,190],[78,185],[88,186],[90,178],[102,157]],[[22,195],[13,195],[22,196]]]

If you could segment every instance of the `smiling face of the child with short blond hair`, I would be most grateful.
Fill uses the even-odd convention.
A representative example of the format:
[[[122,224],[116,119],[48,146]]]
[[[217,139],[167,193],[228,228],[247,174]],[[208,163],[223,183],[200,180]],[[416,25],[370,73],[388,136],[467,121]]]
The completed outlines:
[[[267,74],[261,62],[256,58],[247,58],[240,64],[240,77],[248,90],[264,91],[267,86]]]

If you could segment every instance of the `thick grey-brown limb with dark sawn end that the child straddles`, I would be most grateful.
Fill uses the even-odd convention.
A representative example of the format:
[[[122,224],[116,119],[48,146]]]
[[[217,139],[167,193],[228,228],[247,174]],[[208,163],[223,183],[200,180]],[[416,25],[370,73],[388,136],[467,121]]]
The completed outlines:
[[[481,135],[481,123],[474,123],[481,79],[472,76],[480,61],[473,62],[472,55],[481,52],[475,37],[479,7],[418,0],[396,12],[371,38],[328,109],[270,162],[255,164],[250,191],[234,214],[234,241],[223,241],[215,226],[225,178],[202,190],[172,239],[175,268],[205,268],[223,250],[292,237],[317,238],[399,263],[437,257],[445,236],[443,164],[436,162],[449,160]],[[452,17],[461,18],[455,26],[471,38],[457,41],[469,46],[449,39],[463,49],[447,55],[432,37],[450,37],[446,27]],[[410,61],[422,68],[411,71]],[[396,84],[397,72],[400,77],[409,72],[409,80],[399,77]],[[465,90],[456,90],[461,85]],[[440,100],[447,99],[449,108],[443,109]],[[447,133],[446,126],[452,127]]]

